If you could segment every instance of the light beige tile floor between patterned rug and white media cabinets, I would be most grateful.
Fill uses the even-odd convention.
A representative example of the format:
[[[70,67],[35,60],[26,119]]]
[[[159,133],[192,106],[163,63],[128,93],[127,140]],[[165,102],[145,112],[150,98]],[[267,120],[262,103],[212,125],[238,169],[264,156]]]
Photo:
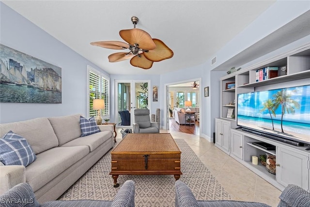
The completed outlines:
[[[120,130],[119,128],[118,139],[122,138]],[[160,130],[160,132],[167,133],[168,131]],[[170,133],[174,139],[186,141],[233,200],[261,202],[277,207],[281,191],[222,152],[214,143],[197,135],[176,131],[170,131]]]

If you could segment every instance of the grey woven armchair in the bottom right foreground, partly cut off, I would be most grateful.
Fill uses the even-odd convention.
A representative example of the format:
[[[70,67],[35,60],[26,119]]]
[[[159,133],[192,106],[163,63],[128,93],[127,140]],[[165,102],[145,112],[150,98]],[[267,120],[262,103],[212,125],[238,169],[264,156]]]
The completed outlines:
[[[310,193],[299,186],[290,184],[279,196],[278,207],[310,207]],[[192,191],[181,180],[175,181],[175,207],[270,207],[267,204],[247,201],[196,200]]]

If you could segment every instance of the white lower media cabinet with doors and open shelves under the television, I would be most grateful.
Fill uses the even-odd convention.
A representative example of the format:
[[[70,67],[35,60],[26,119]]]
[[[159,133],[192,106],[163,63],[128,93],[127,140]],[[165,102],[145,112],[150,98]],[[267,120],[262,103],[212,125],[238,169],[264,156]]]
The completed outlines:
[[[272,144],[276,147],[276,150],[266,150],[253,144],[254,142]],[[306,150],[307,147],[297,147],[242,131],[241,129],[231,129],[230,156],[281,191],[288,184],[296,184],[309,191],[310,153]],[[240,152],[242,156],[238,156],[233,152]],[[269,173],[260,160],[258,165],[252,164],[252,156],[260,157],[265,153],[276,156],[276,175]]]

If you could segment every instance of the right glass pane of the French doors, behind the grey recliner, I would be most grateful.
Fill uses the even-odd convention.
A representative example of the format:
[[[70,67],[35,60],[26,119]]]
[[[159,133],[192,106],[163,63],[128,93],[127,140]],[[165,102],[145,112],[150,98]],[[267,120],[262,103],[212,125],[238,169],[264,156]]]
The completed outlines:
[[[148,83],[135,82],[136,108],[148,109]]]

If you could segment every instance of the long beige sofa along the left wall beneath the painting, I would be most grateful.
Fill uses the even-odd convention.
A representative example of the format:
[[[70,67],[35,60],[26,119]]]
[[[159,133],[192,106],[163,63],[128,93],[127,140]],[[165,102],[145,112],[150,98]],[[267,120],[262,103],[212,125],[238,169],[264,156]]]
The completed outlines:
[[[1,124],[0,137],[12,130],[31,145],[36,160],[23,165],[0,166],[0,194],[28,182],[40,203],[55,200],[93,166],[114,144],[113,125],[81,136],[81,114],[36,118]]]

